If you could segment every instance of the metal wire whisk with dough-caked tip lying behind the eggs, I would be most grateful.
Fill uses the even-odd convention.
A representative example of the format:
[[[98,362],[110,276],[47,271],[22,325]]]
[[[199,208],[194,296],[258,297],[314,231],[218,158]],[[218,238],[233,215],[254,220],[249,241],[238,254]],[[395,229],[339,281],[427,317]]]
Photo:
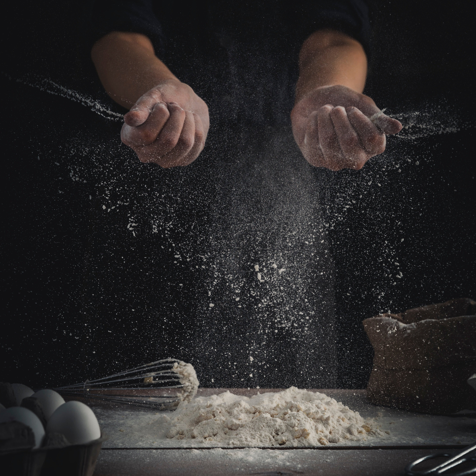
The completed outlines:
[[[187,368],[188,374],[191,373],[191,378],[180,372],[184,368]],[[195,370],[190,364],[167,358],[54,390],[66,396],[170,409],[177,407],[180,401],[193,397],[197,387]]]

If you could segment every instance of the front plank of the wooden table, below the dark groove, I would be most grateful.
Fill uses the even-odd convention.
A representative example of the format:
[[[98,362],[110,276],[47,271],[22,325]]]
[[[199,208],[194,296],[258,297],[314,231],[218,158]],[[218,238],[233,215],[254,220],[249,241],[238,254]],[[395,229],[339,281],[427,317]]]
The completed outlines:
[[[274,455],[260,455],[257,450],[222,450],[241,452],[241,457],[217,455],[217,451],[105,449],[101,451],[94,475],[401,476],[408,463],[441,449],[258,450]]]

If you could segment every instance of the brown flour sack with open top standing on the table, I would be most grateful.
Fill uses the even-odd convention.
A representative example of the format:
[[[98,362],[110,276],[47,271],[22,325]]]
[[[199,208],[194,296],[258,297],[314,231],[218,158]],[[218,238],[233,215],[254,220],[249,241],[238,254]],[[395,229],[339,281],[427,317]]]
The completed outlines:
[[[425,413],[476,410],[476,302],[453,299],[363,321],[375,356],[370,402]]]

